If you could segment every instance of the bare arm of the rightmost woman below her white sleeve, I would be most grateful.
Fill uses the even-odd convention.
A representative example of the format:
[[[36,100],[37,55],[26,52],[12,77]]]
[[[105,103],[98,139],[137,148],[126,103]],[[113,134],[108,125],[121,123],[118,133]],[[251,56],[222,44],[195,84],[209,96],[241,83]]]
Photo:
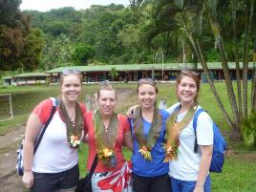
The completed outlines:
[[[210,164],[211,164],[213,146],[200,145],[200,149],[202,152],[202,158],[201,158],[201,163],[199,168],[199,176],[198,176],[198,180],[197,180],[194,192],[203,192],[204,181],[208,175]]]

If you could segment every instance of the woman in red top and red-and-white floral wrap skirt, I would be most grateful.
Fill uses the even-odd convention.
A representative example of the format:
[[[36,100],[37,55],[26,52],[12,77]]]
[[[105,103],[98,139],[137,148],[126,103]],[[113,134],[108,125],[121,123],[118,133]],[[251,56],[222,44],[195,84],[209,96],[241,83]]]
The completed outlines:
[[[85,132],[88,133],[88,170],[98,156],[92,177],[94,192],[132,191],[131,163],[122,155],[122,146],[133,148],[127,117],[115,113],[117,93],[104,81],[97,91],[97,111],[85,115]]]

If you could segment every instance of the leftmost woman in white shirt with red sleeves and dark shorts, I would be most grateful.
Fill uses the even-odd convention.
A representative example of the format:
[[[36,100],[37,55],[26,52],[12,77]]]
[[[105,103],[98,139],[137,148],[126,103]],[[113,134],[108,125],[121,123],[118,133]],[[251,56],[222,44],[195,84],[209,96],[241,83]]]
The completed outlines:
[[[83,139],[86,111],[76,101],[81,89],[79,71],[62,72],[59,104],[35,154],[34,142],[50,117],[52,100],[39,103],[28,119],[22,181],[32,192],[75,191],[79,179],[77,147]]]

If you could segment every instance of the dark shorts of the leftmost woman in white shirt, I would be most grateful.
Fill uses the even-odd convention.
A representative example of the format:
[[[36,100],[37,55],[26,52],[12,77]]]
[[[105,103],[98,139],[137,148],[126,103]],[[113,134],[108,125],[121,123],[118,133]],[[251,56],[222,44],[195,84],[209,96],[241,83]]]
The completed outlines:
[[[31,192],[55,192],[75,190],[79,181],[79,168],[73,168],[60,173],[33,172]]]

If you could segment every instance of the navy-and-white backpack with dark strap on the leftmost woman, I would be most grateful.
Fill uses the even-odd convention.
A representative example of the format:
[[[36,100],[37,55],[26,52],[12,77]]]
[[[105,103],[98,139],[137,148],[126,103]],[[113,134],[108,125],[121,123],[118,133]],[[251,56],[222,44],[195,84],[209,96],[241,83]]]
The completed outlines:
[[[33,154],[36,152],[36,150],[39,146],[39,143],[40,143],[41,139],[43,138],[43,135],[46,131],[46,128],[48,127],[49,123],[53,119],[53,115],[56,111],[56,106],[58,106],[58,99],[57,98],[50,97],[50,99],[53,101],[52,111],[51,111],[51,114],[48,117],[46,123],[44,124],[44,127],[42,128],[41,132],[39,133],[39,135],[37,136],[37,139],[34,142]],[[22,142],[21,142],[21,144],[20,144],[20,146],[17,150],[16,170],[17,170],[17,173],[18,173],[19,176],[23,176],[23,174],[24,174],[23,142],[24,142],[24,139],[22,139]]]

